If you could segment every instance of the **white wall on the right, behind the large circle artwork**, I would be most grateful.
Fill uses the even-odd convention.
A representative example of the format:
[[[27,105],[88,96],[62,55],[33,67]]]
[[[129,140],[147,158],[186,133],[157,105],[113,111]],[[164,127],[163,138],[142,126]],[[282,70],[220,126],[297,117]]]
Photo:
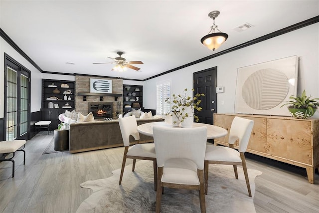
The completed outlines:
[[[147,80],[144,82],[144,107],[156,109],[156,82],[171,79],[171,94],[180,94],[183,89],[192,88],[193,72],[217,66],[217,84],[225,87],[224,93],[217,95],[217,110],[219,113],[234,112],[237,68],[292,55],[300,57],[298,94],[305,89],[307,95],[319,97],[319,23],[316,23]],[[316,117],[318,115],[316,112]]]

